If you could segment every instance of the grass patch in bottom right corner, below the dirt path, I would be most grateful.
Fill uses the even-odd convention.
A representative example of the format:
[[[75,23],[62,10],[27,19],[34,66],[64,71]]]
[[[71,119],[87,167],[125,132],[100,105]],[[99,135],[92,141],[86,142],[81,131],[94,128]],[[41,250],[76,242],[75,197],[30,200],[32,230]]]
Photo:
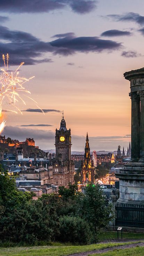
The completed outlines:
[[[135,247],[128,249],[115,249],[107,253],[93,254],[93,256],[144,256],[144,247]]]

